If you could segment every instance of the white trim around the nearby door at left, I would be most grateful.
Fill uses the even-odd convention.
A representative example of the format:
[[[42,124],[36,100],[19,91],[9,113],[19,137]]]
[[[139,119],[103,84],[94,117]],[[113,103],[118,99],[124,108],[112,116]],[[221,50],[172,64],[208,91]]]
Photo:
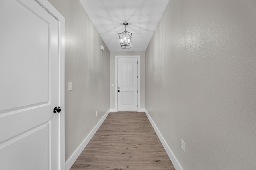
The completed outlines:
[[[65,18],[47,0],[35,0],[58,21],[59,136],[58,170],[65,169]]]

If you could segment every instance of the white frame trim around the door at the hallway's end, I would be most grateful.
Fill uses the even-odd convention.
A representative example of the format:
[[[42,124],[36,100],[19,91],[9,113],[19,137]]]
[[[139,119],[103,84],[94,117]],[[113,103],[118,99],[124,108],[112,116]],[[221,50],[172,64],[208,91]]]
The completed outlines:
[[[140,111],[140,56],[139,55],[116,55],[116,60],[115,60],[115,110],[117,111],[117,59],[118,58],[137,58],[138,64],[137,64],[137,69],[138,69],[138,81],[137,81],[137,89],[138,89],[138,95],[137,95],[137,104],[138,104],[138,111]]]

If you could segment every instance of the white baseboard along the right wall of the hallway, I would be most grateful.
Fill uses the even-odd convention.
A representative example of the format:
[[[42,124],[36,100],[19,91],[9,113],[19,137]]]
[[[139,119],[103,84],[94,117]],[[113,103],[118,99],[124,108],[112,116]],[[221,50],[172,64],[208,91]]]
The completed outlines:
[[[172,150],[170,149],[170,147],[168,146],[168,144],[166,143],[166,141],[164,140],[164,137],[161,135],[160,131],[158,130],[158,128],[156,127],[156,124],[154,123],[154,121],[151,119],[150,115],[148,114],[147,110],[145,109],[145,113],[148,117],[148,120],[150,121],[151,125],[153,126],[154,130],[156,131],[156,134],[158,136],[158,138],[160,139],[162,145],[164,146],[164,149],[166,151],[166,153],[168,154],[170,160],[172,161],[172,164],[174,166],[174,168],[176,170],[183,170],[182,167],[180,166],[180,163],[178,162],[178,160],[176,159],[176,157],[174,156]]]

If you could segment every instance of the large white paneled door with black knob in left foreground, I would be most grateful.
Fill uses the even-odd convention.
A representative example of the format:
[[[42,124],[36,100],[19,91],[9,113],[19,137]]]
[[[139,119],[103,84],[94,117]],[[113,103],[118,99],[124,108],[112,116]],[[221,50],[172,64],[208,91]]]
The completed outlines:
[[[34,0],[1,0],[0,23],[0,169],[57,170],[58,21]]]

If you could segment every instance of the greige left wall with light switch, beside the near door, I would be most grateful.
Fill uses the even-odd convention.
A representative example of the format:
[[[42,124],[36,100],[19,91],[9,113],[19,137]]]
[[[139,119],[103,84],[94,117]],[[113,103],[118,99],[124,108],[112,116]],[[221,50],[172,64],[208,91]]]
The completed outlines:
[[[49,2],[66,22],[65,145],[68,160],[109,110],[110,53],[79,0]],[[104,45],[104,52],[100,45]],[[70,92],[68,82],[73,82]]]

